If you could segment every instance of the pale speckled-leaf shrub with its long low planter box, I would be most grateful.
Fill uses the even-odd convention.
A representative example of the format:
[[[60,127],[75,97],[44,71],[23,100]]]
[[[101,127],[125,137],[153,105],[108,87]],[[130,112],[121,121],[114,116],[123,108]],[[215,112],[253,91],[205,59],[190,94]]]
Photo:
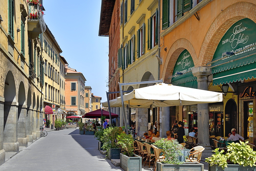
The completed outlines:
[[[161,162],[156,162],[156,170],[204,170],[204,165],[197,162],[181,162],[179,157],[182,156],[183,146],[177,140],[161,139],[154,144],[164,153],[165,158]]]

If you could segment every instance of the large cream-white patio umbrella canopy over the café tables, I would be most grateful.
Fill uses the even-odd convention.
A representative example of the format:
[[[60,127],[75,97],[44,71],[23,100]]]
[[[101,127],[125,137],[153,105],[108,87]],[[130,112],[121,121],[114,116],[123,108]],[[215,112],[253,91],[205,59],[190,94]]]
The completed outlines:
[[[130,103],[133,108],[167,107],[213,103],[222,101],[222,93],[174,86],[171,84],[156,84],[153,86],[134,89],[125,94],[124,105]],[[107,107],[108,102],[102,106]],[[121,97],[110,100],[110,107],[122,107]]]

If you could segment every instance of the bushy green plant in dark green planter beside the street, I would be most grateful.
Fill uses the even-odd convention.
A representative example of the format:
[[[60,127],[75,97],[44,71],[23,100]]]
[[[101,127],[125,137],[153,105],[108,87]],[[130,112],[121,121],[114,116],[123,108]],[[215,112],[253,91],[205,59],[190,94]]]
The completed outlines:
[[[104,130],[101,142],[103,142],[103,150],[107,150],[107,157],[109,159],[120,159],[121,149],[116,144],[116,139],[122,130],[119,127],[110,127]]]

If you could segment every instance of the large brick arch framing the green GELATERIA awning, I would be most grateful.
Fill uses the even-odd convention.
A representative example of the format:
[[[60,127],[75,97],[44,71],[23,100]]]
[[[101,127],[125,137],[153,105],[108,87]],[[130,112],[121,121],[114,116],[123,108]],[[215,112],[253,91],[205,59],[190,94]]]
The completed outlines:
[[[235,22],[243,18],[249,18],[256,23],[255,4],[237,2],[224,9],[208,29],[198,55],[198,65],[195,66],[204,66],[210,62],[223,35]]]

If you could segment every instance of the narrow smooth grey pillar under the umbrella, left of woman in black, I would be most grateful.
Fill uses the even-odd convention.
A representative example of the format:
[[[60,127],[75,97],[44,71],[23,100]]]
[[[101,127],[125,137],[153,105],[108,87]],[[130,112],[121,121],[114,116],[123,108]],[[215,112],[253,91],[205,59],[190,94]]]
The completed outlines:
[[[162,107],[162,136],[167,137],[166,131],[170,131],[170,107]]]

